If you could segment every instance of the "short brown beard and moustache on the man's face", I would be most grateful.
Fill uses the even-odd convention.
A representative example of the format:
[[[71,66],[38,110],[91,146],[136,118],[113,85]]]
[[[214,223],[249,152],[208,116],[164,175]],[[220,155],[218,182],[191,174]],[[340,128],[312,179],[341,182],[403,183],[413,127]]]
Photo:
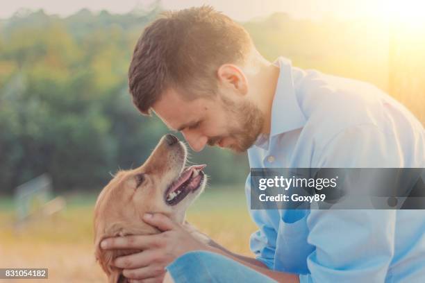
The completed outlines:
[[[228,98],[222,97],[222,104],[227,113],[227,120],[231,126],[228,127],[228,135],[212,137],[208,145],[214,146],[220,139],[230,137],[235,141],[228,146],[231,151],[242,153],[247,151],[258,138],[264,124],[263,112],[251,101],[235,103]]]

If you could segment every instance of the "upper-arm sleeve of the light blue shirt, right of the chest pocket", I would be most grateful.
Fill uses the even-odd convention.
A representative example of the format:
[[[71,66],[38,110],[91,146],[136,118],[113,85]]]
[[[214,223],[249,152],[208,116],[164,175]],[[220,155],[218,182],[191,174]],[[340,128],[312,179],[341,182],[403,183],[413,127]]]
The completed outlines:
[[[396,139],[374,125],[343,130],[324,147],[314,165],[401,167]],[[384,282],[394,255],[395,210],[312,209],[307,218],[309,274],[304,282]]]

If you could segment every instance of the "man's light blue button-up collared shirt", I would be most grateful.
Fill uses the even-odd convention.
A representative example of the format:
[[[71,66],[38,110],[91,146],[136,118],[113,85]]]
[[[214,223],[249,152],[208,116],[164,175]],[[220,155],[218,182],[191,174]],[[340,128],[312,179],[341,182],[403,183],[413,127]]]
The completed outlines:
[[[275,64],[271,132],[249,148],[251,168],[424,167],[424,127],[380,89]],[[256,258],[300,282],[425,282],[425,210],[250,213]]]

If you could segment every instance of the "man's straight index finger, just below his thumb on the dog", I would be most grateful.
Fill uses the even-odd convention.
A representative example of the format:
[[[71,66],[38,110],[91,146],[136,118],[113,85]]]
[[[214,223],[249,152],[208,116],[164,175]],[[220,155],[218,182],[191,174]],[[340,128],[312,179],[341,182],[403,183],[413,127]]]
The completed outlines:
[[[112,237],[101,241],[101,248],[104,250],[116,248],[144,250],[151,246],[156,246],[157,242],[158,236],[155,234]]]

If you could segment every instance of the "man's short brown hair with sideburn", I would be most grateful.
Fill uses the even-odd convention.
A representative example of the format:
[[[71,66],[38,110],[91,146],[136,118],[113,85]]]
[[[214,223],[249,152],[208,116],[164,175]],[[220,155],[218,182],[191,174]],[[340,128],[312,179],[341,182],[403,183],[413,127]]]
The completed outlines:
[[[243,62],[251,48],[247,31],[210,6],[165,12],[139,38],[128,69],[133,103],[142,114],[173,87],[194,98],[214,94],[216,71]]]

